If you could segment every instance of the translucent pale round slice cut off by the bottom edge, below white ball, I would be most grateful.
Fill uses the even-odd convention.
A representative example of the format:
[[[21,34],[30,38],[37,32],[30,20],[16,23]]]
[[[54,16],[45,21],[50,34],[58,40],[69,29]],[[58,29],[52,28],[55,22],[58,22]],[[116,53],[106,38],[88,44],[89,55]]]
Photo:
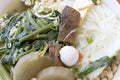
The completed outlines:
[[[75,80],[75,75],[68,68],[49,67],[38,74],[37,80]]]

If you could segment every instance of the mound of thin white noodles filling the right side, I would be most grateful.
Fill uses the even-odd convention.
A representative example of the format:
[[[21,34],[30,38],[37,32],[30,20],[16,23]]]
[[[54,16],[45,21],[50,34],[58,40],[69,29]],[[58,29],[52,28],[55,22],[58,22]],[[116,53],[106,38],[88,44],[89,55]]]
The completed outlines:
[[[87,38],[92,38],[93,42],[89,44]],[[105,4],[94,6],[81,26],[78,39],[78,50],[84,54],[78,63],[82,68],[101,57],[112,57],[120,49],[120,19]],[[101,73],[99,70],[96,72]],[[89,79],[92,80],[93,77],[97,76],[90,75]]]

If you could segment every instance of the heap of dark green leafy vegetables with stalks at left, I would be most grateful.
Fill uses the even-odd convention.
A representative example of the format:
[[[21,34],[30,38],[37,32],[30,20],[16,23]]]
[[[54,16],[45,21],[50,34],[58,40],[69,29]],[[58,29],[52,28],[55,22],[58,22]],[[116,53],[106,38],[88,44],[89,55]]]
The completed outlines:
[[[15,65],[22,56],[43,50],[45,43],[56,40],[58,25],[55,21],[58,23],[60,13],[53,11],[50,17],[53,19],[36,17],[30,9],[11,16],[0,32],[0,43],[4,44],[0,47],[1,62]]]

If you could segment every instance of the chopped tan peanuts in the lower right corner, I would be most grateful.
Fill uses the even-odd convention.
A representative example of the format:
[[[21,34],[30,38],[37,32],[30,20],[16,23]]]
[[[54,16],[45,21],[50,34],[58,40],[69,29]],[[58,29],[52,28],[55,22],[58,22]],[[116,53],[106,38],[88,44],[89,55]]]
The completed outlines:
[[[112,63],[107,66],[102,73],[95,78],[95,80],[107,78],[107,80],[119,80],[119,70],[120,70],[120,54],[117,53],[113,58]],[[117,71],[117,72],[116,72]]]

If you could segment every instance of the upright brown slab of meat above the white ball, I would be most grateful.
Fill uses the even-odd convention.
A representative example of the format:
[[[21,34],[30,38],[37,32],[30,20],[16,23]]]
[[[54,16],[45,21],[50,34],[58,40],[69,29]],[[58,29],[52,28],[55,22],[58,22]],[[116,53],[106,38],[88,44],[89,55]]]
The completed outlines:
[[[76,28],[80,22],[80,13],[70,6],[66,6],[61,15],[58,41],[73,43],[76,39]]]

